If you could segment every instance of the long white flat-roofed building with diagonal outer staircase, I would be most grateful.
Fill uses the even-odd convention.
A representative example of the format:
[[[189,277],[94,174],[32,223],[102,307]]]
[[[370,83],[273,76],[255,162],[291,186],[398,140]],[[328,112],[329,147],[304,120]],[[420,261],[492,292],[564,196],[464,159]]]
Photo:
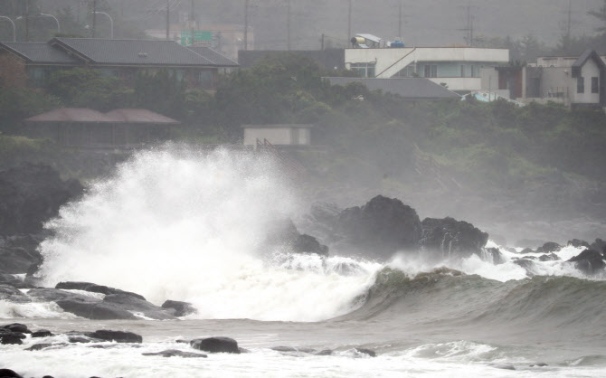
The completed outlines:
[[[424,77],[449,90],[482,89],[480,71],[509,62],[509,50],[478,47],[346,49],[346,68],[365,78]]]

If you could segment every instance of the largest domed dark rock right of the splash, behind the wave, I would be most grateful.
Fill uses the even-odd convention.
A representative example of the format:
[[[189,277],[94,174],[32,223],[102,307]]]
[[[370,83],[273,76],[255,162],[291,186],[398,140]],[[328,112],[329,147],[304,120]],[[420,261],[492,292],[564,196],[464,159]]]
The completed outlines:
[[[374,252],[388,259],[394,252],[417,247],[421,221],[412,207],[378,195],[362,207],[340,213],[335,232],[341,250]]]

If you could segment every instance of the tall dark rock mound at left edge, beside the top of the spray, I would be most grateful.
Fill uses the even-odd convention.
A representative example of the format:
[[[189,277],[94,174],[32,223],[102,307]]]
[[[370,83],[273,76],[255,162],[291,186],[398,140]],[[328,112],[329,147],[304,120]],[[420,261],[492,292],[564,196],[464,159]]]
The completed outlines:
[[[0,171],[0,232],[40,232],[43,222],[82,191],[78,181],[63,182],[49,165],[27,163]]]

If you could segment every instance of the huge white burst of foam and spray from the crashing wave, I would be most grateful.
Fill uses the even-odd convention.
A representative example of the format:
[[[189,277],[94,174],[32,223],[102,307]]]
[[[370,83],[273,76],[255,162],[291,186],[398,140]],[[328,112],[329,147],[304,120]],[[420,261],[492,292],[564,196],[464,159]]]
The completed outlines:
[[[289,266],[260,250],[270,222],[297,210],[275,162],[224,150],[148,151],[62,207],[43,241],[43,283],[90,281],[160,305],[185,300],[192,317],[317,321],[345,314],[373,267],[298,255]],[[296,266],[295,266],[296,265]],[[325,269],[326,268],[326,269]]]

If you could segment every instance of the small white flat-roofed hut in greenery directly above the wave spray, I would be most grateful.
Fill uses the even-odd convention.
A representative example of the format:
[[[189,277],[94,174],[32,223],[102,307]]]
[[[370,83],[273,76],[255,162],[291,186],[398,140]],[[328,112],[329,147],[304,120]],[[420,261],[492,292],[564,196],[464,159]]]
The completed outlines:
[[[309,146],[310,130],[313,125],[309,124],[273,124],[273,125],[242,125],[244,129],[244,146],[257,148],[265,141],[273,146]]]

